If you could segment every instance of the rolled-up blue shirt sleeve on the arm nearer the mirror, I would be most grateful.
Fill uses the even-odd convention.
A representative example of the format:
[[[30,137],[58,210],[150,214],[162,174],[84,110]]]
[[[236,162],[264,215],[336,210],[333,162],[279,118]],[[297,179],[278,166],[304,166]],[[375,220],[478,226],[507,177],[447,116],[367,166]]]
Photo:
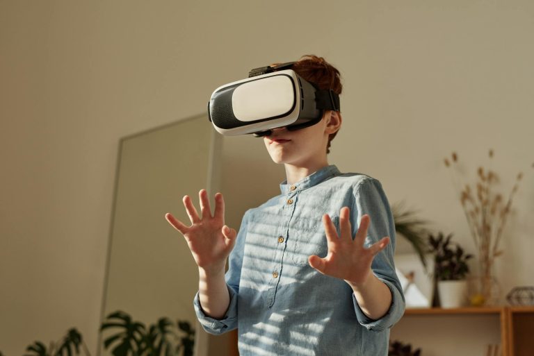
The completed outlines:
[[[239,280],[241,279],[241,265],[243,264],[243,251],[245,248],[245,239],[248,226],[248,212],[243,216],[241,221],[241,228],[236,237],[236,244],[229,255],[228,271],[225,274],[228,293],[230,295],[230,302],[228,310],[222,319],[214,319],[207,316],[200,305],[199,294],[195,295],[193,299],[193,306],[197,319],[202,325],[202,328],[210,334],[223,334],[230,330],[237,328],[237,298],[239,293]]]

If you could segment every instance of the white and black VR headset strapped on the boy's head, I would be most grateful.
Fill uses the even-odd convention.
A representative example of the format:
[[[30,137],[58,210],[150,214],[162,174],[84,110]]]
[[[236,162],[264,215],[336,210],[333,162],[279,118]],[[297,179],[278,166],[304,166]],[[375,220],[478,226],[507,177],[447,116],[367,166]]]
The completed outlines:
[[[213,127],[223,135],[261,137],[273,128],[312,126],[321,121],[324,110],[339,111],[339,95],[298,76],[293,64],[252,69],[248,79],[218,87],[208,103]]]

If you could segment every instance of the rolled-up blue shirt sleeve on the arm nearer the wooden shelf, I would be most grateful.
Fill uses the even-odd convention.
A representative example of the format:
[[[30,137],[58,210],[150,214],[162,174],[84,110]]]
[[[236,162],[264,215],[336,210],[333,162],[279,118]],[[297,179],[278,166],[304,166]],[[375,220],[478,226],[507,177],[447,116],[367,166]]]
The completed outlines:
[[[353,224],[353,235],[356,234],[359,222],[364,214],[371,218],[367,237],[366,247],[371,246],[382,237],[389,236],[390,243],[375,256],[371,269],[375,276],[387,285],[391,291],[391,305],[387,313],[378,320],[373,320],[366,316],[359,307],[356,297],[353,294],[353,303],[359,323],[373,331],[382,331],[391,328],[404,314],[405,300],[401,282],[399,282],[395,271],[394,251],[395,251],[395,223],[389,202],[378,180],[365,178],[355,188],[355,206],[353,214],[357,223]]]

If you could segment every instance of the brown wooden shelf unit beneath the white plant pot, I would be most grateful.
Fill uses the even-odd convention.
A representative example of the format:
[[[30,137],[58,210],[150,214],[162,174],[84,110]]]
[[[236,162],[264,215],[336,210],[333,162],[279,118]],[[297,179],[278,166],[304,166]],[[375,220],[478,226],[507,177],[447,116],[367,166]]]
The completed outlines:
[[[502,356],[534,355],[534,306],[410,308],[403,317],[469,314],[499,315]]]

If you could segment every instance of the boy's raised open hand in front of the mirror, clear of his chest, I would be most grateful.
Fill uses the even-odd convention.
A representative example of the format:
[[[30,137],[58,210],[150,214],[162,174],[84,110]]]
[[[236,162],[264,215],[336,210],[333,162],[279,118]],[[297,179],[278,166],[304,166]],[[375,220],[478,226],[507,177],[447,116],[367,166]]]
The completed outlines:
[[[207,271],[224,271],[226,259],[234,248],[236,230],[225,225],[225,201],[223,194],[215,194],[215,212],[211,216],[211,208],[206,190],[198,193],[200,214],[198,214],[191,198],[184,196],[184,206],[191,220],[186,226],[172,214],[165,214],[165,219],[176,230],[184,235],[191,254],[197,265]]]

